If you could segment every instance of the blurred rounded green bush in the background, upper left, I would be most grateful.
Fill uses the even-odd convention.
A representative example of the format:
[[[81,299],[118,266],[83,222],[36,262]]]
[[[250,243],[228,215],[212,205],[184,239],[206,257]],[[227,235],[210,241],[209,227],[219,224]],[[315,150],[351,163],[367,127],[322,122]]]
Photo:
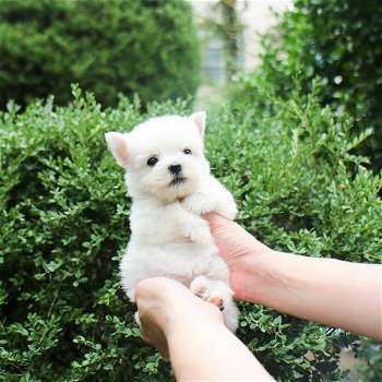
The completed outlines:
[[[138,93],[146,103],[193,94],[200,51],[183,0],[0,1],[0,108],[55,94],[68,84],[103,105]]]

